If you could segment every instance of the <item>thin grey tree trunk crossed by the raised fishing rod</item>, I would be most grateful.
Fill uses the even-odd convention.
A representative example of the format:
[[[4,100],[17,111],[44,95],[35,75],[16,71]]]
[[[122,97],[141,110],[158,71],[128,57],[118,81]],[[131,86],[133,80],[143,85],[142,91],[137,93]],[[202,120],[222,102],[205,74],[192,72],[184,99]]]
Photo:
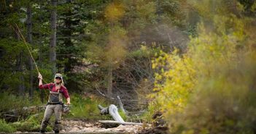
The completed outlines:
[[[28,4],[28,9],[27,9],[27,40],[28,43],[32,44],[32,12],[31,12],[31,4]],[[28,59],[29,63],[29,70],[30,70],[30,76],[29,76],[29,98],[33,98],[34,94],[34,76],[33,76],[33,70],[34,70],[34,64],[31,56],[29,56]]]

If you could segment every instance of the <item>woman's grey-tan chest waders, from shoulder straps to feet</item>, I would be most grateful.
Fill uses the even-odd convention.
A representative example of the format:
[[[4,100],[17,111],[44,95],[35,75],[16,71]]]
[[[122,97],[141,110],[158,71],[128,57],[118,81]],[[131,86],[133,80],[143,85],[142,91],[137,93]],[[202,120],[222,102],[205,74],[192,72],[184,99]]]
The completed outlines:
[[[50,94],[49,99],[47,102],[47,107],[44,112],[44,119],[42,120],[42,125],[40,128],[40,131],[42,133],[45,132],[45,129],[47,127],[47,124],[50,120],[50,117],[52,114],[55,114],[55,125],[53,130],[55,133],[58,133],[60,131],[60,124],[61,124],[61,112],[63,109],[63,97],[62,93],[60,93],[60,89],[58,89],[57,92],[53,92],[53,85],[50,86]]]

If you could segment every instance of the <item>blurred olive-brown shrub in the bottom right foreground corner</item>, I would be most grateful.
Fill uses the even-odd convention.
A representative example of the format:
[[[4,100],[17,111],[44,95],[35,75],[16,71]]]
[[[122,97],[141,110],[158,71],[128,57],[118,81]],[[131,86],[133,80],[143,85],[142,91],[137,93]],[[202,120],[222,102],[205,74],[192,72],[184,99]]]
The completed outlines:
[[[252,55],[238,63],[216,64],[222,69],[200,80],[185,112],[168,117],[171,132],[255,133],[256,54]]]

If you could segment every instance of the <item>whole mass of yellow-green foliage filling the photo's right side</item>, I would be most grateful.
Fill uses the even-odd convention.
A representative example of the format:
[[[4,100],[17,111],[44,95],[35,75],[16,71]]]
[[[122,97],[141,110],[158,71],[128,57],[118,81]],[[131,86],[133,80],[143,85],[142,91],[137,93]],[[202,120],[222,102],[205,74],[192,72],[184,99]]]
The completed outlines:
[[[193,6],[202,14],[198,36],[185,54],[155,59],[163,71],[152,96],[171,133],[255,133],[255,18],[238,1]]]

